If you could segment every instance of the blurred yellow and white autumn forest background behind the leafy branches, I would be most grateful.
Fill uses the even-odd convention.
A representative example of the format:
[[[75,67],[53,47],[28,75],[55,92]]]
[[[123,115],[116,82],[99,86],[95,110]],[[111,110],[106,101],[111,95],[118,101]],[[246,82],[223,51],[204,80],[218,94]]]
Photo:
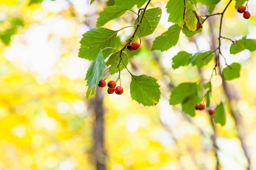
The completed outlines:
[[[84,78],[90,62],[77,57],[79,41],[95,27],[99,11],[114,4],[89,1],[0,0],[0,170],[256,170],[256,52],[231,55],[231,41],[222,40],[228,64],[242,64],[240,78],[225,82],[229,100],[221,77],[212,79],[212,107],[227,101],[225,126],[212,125],[206,110],[184,115],[180,106],[169,105],[171,88],[209,80],[215,63],[201,70],[173,70],[171,58],[182,50],[210,50],[220,16],[211,17],[212,24],[205,22],[203,32],[192,38],[181,33],[168,51],[151,51],[155,37],[172,25],[167,22],[168,0],[152,1],[148,8],[162,8],[159,25],[138,51],[126,53],[132,73],[158,79],[159,104],[144,107],[130,98],[126,70],[121,72],[122,95],[97,88],[97,95],[87,100]],[[228,1],[221,0],[215,12]],[[249,20],[234,6],[235,1],[224,15],[222,35],[256,39],[256,0],[249,0]],[[207,11],[198,7],[201,14]],[[118,30],[133,25],[136,17],[127,11],[104,27]],[[117,49],[132,31],[118,33]]]

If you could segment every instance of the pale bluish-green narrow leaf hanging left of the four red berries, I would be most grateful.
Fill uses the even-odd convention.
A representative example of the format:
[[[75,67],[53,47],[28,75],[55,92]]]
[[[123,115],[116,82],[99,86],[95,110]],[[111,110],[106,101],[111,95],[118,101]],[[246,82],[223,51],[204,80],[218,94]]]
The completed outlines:
[[[88,68],[85,76],[85,80],[87,80],[86,85],[89,89],[93,88],[99,83],[105,68],[106,64],[102,55],[102,51],[99,51],[98,55],[94,58],[92,64]]]

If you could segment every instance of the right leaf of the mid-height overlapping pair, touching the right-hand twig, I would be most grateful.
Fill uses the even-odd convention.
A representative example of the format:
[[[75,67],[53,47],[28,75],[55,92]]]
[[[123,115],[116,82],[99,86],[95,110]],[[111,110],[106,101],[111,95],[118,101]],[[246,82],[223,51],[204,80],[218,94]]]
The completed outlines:
[[[204,53],[199,53],[195,59],[192,61],[193,66],[197,68],[202,68],[207,65],[213,59],[213,51],[206,51]]]

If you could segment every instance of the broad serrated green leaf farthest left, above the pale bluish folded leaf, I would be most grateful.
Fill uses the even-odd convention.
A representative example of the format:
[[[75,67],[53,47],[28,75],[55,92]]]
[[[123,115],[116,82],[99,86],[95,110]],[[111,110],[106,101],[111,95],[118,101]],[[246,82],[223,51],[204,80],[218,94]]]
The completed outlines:
[[[118,31],[113,31],[106,28],[93,28],[83,34],[80,41],[78,57],[94,60],[94,57],[99,53],[100,49],[106,47],[114,47]],[[112,49],[104,49],[103,57],[106,59],[112,52]]]

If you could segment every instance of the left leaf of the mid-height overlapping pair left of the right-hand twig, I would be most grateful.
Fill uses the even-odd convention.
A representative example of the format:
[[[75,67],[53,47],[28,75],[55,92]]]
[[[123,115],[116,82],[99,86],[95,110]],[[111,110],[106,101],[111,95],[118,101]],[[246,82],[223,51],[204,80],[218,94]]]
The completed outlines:
[[[189,60],[192,54],[187,53],[186,51],[180,51],[175,55],[172,60],[173,60],[173,65],[172,68],[176,69],[179,68],[180,66],[186,66],[189,64]]]

